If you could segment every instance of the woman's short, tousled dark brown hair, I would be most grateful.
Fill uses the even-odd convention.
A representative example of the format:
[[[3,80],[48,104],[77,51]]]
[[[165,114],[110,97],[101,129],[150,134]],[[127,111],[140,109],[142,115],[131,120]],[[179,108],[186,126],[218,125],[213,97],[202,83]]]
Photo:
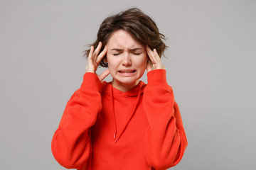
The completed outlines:
[[[102,42],[102,48],[100,49],[100,52],[102,52],[110,35],[117,30],[125,30],[138,42],[148,45],[152,50],[155,48],[160,57],[167,47],[163,42],[165,36],[159,33],[156,23],[139,8],[129,8],[127,11],[105,18],[97,32],[97,40],[89,46],[96,49],[99,42]],[[90,49],[85,50],[86,57],[89,53]],[[101,60],[99,66],[108,67],[108,64]]]

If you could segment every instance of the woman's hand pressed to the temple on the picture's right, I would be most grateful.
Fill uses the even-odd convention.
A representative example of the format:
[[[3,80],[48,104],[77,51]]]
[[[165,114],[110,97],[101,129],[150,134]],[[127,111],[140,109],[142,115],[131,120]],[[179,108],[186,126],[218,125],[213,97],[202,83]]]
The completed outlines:
[[[161,63],[161,58],[157,54],[156,49],[152,51],[150,47],[146,45],[146,52],[150,59],[146,63],[147,72],[150,72],[153,69],[164,69],[164,65]]]

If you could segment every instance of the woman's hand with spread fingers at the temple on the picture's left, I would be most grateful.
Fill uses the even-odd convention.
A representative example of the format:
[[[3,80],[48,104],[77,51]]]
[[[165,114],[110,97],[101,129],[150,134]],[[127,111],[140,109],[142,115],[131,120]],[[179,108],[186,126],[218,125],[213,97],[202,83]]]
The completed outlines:
[[[102,58],[107,54],[107,45],[105,45],[104,50],[100,52],[100,49],[102,47],[102,42],[99,42],[99,45],[97,45],[97,48],[94,50],[94,47],[91,46],[90,53],[88,55],[88,64],[86,67],[86,72],[92,72],[96,74],[96,70],[98,65],[100,64],[100,61]],[[100,55],[98,55],[100,52]],[[100,81],[103,81],[107,75],[110,74],[110,70],[106,69],[102,74],[97,75],[99,77]]]

